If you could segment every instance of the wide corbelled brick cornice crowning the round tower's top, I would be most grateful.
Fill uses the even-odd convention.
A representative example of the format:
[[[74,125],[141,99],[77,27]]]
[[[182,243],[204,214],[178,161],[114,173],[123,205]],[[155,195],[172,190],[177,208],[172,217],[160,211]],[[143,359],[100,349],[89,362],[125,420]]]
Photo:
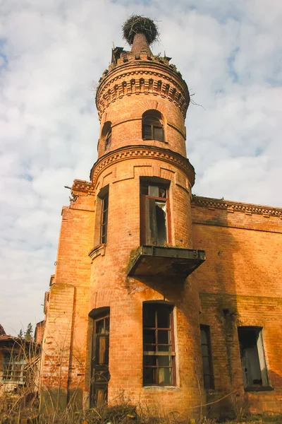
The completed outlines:
[[[173,72],[167,73],[169,69],[163,69],[155,64],[131,65],[125,72],[109,74],[108,78],[100,84],[97,95],[96,105],[99,119],[102,118],[112,102],[128,95],[152,94],[160,95],[162,98],[168,98],[176,105],[185,118],[188,110],[190,95],[186,83],[183,80],[178,81]]]

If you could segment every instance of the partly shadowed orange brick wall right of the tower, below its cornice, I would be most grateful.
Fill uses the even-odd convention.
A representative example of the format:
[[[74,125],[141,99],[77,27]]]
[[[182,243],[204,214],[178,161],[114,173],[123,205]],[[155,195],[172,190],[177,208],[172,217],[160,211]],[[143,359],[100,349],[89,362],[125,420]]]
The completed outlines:
[[[217,202],[220,207],[225,203]],[[197,206],[195,197],[192,232],[195,247],[204,246],[207,255],[190,278],[200,288],[200,322],[210,326],[216,391],[240,389],[252,413],[281,411],[282,220],[228,206]],[[244,394],[238,326],[262,327],[274,391]]]

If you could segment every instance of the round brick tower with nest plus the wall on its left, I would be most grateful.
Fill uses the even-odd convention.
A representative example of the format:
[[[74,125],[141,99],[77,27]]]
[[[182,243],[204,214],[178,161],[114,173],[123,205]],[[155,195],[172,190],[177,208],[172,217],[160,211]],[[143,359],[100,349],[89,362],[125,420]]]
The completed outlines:
[[[97,88],[101,123],[91,182],[75,180],[62,212],[46,296],[42,408],[120,402],[192,411],[202,362],[192,240],[195,172],[185,151],[188,87],[157,31],[130,18]]]

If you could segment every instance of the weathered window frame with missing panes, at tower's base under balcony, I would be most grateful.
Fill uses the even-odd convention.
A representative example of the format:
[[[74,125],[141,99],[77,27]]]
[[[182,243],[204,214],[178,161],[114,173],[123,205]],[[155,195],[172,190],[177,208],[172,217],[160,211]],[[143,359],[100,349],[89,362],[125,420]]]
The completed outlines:
[[[154,326],[146,326],[146,314],[149,314],[149,309],[154,312]],[[161,313],[167,314],[167,319],[169,325],[159,326],[158,319]],[[160,343],[159,334],[161,331],[164,338],[164,331],[167,331],[167,341],[168,343]],[[147,334],[146,334],[147,332]],[[146,343],[146,336],[151,332],[154,334],[154,343]],[[154,333],[153,333],[154,332]],[[147,350],[147,348],[151,350]],[[150,359],[155,358],[155,365],[150,364]],[[164,358],[168,359],[168,365],[161,364],[161,360]],[[154,360],[152,361],[154,362]],[[170,373],[166,376],[169,377],[169,382],[160,382],[160,376],[165,371],[161,370],[170,370]],[[148,382],[148,372],[152,370],[151,382]],[[173,305],[168,305],[162,302],[143,302],[143,386],[176,386],[176,352],[175,352],[175,341],[174,341],[174,326],[173,326]]]

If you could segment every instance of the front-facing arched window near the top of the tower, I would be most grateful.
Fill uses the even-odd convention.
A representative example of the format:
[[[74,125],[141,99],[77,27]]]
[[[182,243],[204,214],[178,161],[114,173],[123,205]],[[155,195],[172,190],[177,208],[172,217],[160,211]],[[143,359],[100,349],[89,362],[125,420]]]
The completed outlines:
[[[164,141],[164,124],[158,110],[147,110],[143,114],[142,139]]]

